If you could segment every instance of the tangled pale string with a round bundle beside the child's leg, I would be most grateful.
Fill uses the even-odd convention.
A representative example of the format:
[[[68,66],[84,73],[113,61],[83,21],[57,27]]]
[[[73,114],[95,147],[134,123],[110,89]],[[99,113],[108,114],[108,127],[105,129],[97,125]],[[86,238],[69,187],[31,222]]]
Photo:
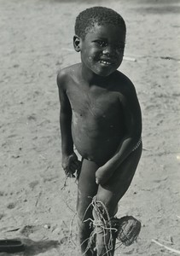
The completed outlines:
[[[84,254],[92,247],[96,250],[94,245],[96,244],[96,235],[98,234],[97,228],[101,228],[103,233],[102,237],[104,238],[104,246],[106,249],[106,253],[104,253],[104,255],[108,255],[108,253],[113,249],[113,233],[115,233],[115,238],[119,240],[119,246],[125,245],[128,247],[136,241],[141,230],[141,223],[136,218],[132,216],[110,218],[107,212],[107,207],[102,203],[102,201],[96,201],[96,197],[92,199],[89,207],[94,207],[97,214],[97,220],[91,218],[84,219],[84,222],[91,221],[91,224],[94,226],[94,230],[90,234],[88,246],[86,247]],[[86,209],[86,212],[89,207]],[[84,213],[84,216],[86,212]],[[107,234],[109,236],[108,241],[105,240]]]

